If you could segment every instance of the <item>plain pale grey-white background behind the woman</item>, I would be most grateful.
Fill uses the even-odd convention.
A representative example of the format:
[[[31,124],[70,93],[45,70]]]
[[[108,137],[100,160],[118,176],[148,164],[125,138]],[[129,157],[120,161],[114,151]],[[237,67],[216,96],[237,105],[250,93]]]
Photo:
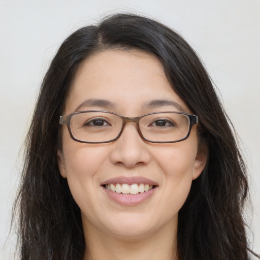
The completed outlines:
[[[14,256],[15,235],[5,241],[19,151],[49,61],[72,31],[113,11],[138,12],[175,28],[205,62],[241,138],[253,205],[245,214],[260,253],[259,0],[0,0],[0,259]]]

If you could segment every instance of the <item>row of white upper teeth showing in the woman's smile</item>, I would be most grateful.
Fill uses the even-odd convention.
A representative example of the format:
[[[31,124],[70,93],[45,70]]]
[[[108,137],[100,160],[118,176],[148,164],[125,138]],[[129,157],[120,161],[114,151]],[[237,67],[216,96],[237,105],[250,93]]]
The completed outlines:
[[[112,192],[136,195],[138,193],[147,192],[155,186],[144,183],[140,183],[139,185],[137,183],[131,185],[126,183],[111,183],[104,185],[104,187]]]

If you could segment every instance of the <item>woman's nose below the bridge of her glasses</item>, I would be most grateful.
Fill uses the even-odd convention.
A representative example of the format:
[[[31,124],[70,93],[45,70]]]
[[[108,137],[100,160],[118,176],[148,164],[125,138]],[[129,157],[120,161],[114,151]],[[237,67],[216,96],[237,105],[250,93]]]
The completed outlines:
[[[137,165],[147,165],[151,159],[147,144],[139,135],[135,123],[127,123],[121,136],[114,142],[110,154],[113,164],[133,168]]]

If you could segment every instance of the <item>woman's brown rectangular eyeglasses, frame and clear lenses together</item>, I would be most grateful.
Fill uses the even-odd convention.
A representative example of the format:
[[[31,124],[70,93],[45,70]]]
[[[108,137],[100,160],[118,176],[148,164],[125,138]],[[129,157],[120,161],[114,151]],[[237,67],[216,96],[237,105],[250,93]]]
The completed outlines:
[[[198,116],[181,112],[154,112],[125,117],[108,111],[79,111],[60,116],[70,136],[80,143],[110,143],[117,140],[126,123],[136,123],[140,136],[151,143],[175,143],[188,138]]]

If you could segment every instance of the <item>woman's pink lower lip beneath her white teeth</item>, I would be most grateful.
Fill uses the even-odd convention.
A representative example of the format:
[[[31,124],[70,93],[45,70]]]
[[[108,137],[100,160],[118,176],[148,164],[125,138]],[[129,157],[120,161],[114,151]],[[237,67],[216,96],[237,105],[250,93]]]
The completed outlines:
[[[142,192],[142,193],[135,194],[135,195],[117,193],[117,192],[108,190],[105,187],[103,187],[103,189],[105,190],[107,196],[114,202],[124,205],[124,206],[135,206],[135,205],[138,205],[140,203],[147,201],[152,196],[152,194],[157,189],[157,187],[152,188],[152,189]]]

